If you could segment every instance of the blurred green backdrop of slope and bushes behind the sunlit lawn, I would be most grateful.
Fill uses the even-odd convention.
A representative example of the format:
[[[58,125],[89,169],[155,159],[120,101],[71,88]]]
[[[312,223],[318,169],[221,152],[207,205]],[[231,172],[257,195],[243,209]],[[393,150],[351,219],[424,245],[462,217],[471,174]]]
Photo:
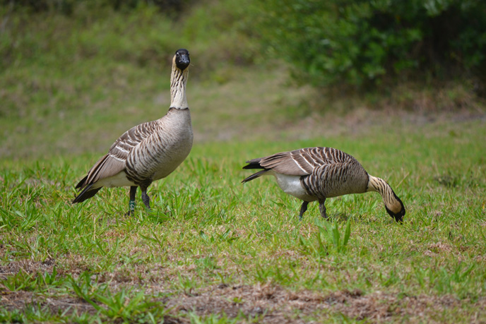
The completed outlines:
[[[486,106],[485,1],[0,0],[0,154],[102,150],[160,117],[180,47],[206,138]]]

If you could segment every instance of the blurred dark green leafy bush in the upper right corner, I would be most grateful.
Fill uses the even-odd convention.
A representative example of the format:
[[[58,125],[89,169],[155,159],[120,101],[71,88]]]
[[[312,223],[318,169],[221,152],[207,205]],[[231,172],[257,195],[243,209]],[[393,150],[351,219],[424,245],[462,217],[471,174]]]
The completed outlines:
[[[268,50],[314,85],[480,76],[486,66],[485,1],[269,0],[251,16]]]

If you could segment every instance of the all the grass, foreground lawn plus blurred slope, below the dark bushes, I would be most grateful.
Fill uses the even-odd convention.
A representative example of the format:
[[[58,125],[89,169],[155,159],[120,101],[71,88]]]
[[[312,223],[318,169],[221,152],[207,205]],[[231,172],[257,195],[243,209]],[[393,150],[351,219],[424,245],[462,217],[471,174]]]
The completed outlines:
[[[484,322],[484,102],[468,85],[437,92],[439,105],[429,89],[391,97],[437,106],[427,112],[311,97],[278,61],[254,57],[228,27],[232,2],[218,4],[208,1],[212,15],[195,6],[177,39],[150,7],[70,18],[0,9],[0,322]],[[153,210],[138,191],[125,216],[126,188],[71,205],[117,136],[167,112],[181,42],[191,155],[150,186]],[[389,181],[405,222],[374,193],[328,199],[329,220],[310,204],[299,222],[300,201],[273,179],[240,184],[244,161],[315,145]]]

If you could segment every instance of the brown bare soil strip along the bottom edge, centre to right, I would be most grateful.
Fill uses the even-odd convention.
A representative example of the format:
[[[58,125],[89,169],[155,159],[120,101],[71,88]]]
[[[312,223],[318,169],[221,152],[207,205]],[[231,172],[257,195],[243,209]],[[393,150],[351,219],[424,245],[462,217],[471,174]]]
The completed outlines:
[[[486,299],[472,302],[454,296],[406,296],[374,292],[363,294],[359,290],[341,290],[331,294],[302,291],[290,292],[273,285],[227,286],[220,284],[203,294],[178,296],[167,301],[174,313],[194,311],[200,316],[225,313],[235,317],[243,313],[250,318],[259,317],[259,323],[309,323],[309,316],[325,320],[332,313],[341,313],[348,318],[381,323],[407,318],[410,322],[440,323],[439,314],[448,308],[461,313],[463,306],[478,304],[485,309]],[[478,314],[470,317],[467,311],[464,320],[481,323]],[[485,313],[481,314],[482,320]]]

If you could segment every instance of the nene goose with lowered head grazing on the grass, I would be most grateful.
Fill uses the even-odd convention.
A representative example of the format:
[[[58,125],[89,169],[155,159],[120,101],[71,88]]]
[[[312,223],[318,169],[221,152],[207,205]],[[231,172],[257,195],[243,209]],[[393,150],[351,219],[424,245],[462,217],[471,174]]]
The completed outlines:
[[[369,175],[360,162],[335,148],[301,148],[247,161],[243,169],[263,169],[242,183],[263,175],[275,176],[280,188],[304,200],[299,219],[311,201],[319,201],[321,216],[326,218],[326,198],[377,191],[383,197],[386,211],[397,222],[403,220],[405,207],[389,184]]]

